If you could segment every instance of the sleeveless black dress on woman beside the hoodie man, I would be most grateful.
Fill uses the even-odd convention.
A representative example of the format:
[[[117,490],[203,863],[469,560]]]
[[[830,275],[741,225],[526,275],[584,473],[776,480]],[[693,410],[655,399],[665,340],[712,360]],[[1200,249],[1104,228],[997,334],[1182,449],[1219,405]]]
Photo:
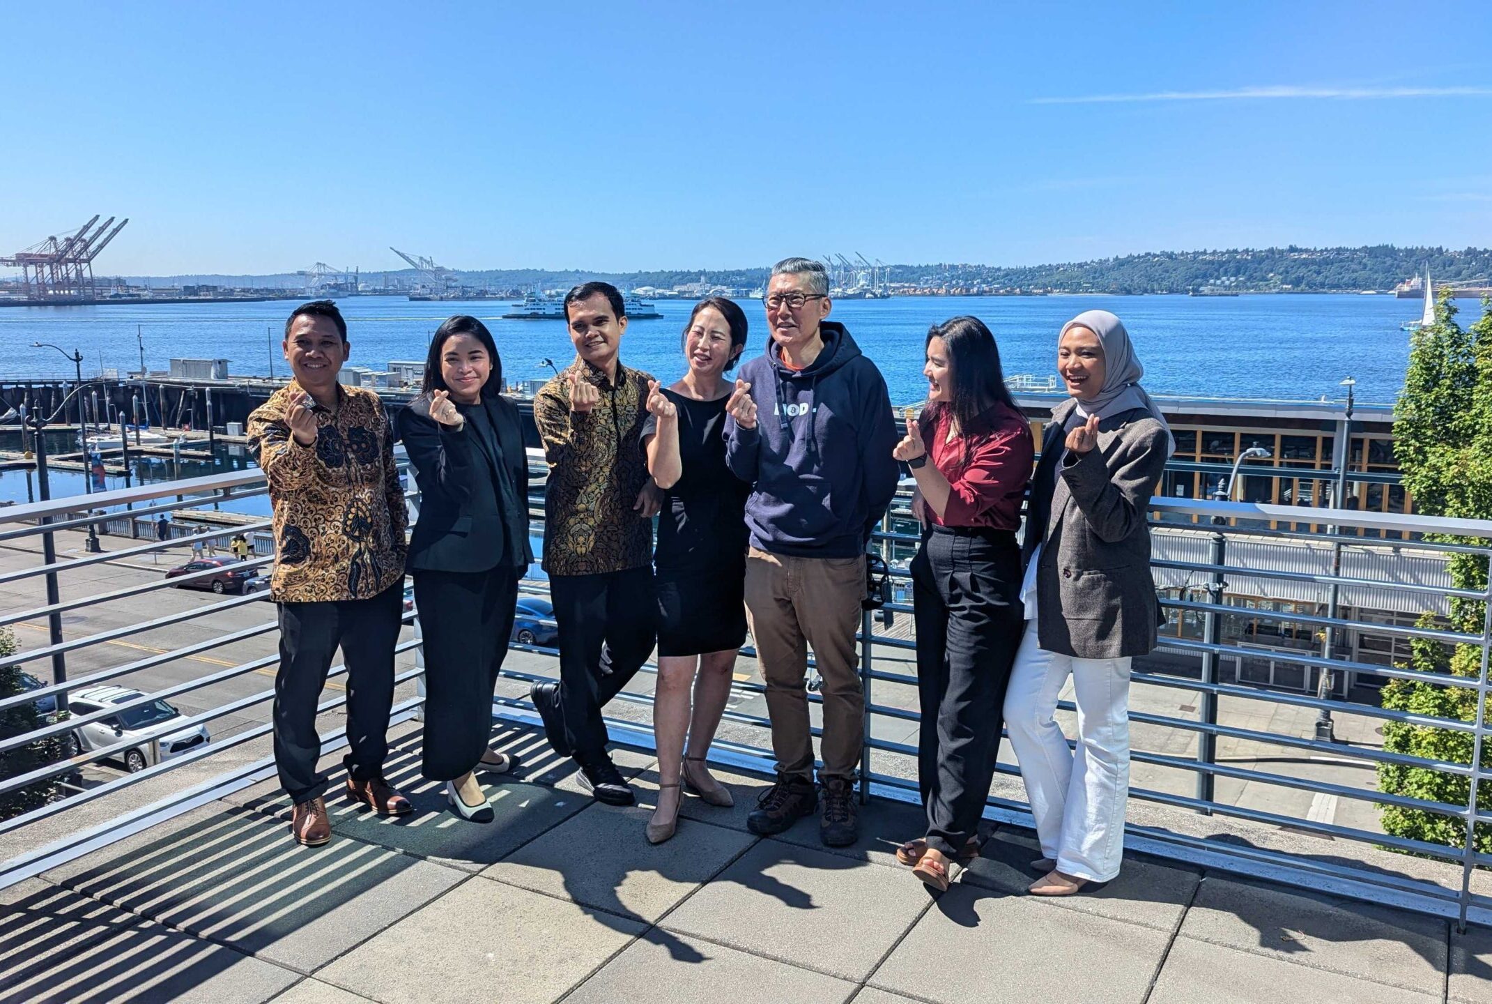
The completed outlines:
[[[662,391],[679,409],[682,473],[664,492],[653,548],[658,655],[703,655],[746,641],[746,495],[725,465],[725,400]],[[643,436],[656,431],[648,416]]]

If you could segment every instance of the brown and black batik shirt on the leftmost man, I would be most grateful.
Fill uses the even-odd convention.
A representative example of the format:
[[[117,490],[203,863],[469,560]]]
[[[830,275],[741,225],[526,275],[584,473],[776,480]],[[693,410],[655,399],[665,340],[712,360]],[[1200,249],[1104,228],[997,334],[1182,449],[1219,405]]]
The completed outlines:
[[[301,446],[285,412],[304,394],[294,380],[249,415],[249,448],[275,506],[279,603],[366,600],[404,577],[404,489],[383,403],[337,385],[337,410],[319,404],[316,442]]]

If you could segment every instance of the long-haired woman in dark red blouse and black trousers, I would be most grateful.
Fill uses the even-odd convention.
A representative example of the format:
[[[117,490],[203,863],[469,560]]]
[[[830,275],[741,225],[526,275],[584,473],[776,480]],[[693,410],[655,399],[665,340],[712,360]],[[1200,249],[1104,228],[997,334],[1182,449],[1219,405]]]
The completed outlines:
[[[1000,709],[1025,616],[1016,530],[1035,448],[1006,389],[995,339],[977,318],[928,330],[922,373],[928,404],[907,422],[894,456],[918,480],[912,512],[922,524],[912,595],[928,828],[897,858],[941,891],[949,867],[979,853]]]

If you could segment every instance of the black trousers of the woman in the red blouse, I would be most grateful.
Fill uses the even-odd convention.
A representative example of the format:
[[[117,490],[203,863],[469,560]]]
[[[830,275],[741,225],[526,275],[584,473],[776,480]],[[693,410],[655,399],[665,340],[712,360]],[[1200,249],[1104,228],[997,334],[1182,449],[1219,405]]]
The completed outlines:
[[[1000,709],[1021,646],[1015,534],[932,527],[912,561],[912,595],[927,841],[952,858],[974,835],[985,810],[1000,752]]]

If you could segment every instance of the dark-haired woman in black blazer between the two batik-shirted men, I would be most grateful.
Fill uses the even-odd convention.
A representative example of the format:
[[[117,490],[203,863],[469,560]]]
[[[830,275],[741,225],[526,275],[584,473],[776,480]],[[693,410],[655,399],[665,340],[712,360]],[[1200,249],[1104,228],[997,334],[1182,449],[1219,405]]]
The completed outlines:
[[[406,567],[425,649],[424,774],[446,782],[451,807],[477,822],[494,813],[474,771],[516,764],[488,737],[518,579],[534,559],[524,434],[501,389],[492,334],[458,315],[436,330],[422,394],[398,415],[421,494]]]

